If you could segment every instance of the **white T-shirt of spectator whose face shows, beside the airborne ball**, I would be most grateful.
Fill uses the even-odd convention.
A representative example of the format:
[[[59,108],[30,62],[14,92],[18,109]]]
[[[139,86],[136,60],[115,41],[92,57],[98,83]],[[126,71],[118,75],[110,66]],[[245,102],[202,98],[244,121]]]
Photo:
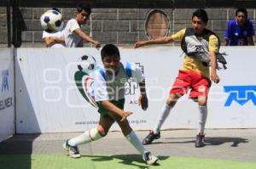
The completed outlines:
[[[82,37],[79,37],[77,34],[73,32],[79,28],[81,27],[77,20],[71,19],[67,21],[67,25],[64,32],[65,43],[67,48],[83,47]]]

